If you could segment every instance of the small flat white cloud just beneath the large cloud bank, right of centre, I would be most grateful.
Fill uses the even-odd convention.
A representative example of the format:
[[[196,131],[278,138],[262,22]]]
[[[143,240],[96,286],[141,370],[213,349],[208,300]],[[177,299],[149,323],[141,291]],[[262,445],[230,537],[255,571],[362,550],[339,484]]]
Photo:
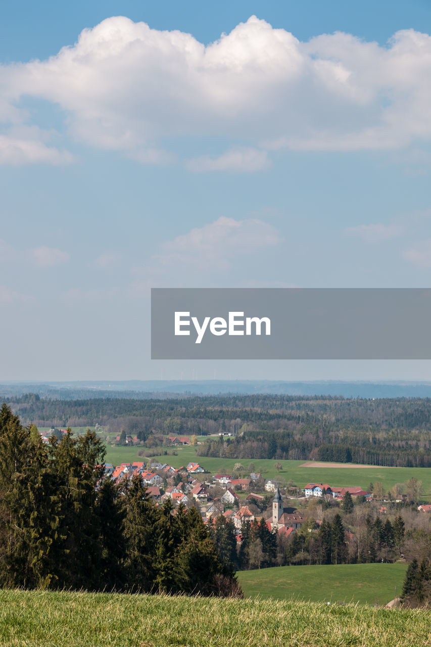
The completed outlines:
[[[186,162],[186,168],[195,173],[206,171],[229,171],[232,173],[254,173],[271,166],[267,151],[255,148],[234,148],[219,157],[201,155]]]

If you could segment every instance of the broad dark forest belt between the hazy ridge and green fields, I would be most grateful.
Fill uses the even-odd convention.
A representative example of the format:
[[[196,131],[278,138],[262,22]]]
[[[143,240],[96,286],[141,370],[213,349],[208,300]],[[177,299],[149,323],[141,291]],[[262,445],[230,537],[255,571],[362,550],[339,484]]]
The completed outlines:
[[[344,399],[278,395],[137,400],[8,399],[25,424],[103,425],[108,432],[234,437],[208,439],[199,455],[239,459],[318,459],[431,466],[431,399]]]

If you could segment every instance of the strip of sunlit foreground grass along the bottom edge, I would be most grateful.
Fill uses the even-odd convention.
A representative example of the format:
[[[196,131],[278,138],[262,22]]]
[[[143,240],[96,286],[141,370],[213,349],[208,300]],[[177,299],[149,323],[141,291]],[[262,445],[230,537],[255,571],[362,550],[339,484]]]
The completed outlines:
[[[291,600],[0,591],[0,644],[423,647],[431,613]]]

